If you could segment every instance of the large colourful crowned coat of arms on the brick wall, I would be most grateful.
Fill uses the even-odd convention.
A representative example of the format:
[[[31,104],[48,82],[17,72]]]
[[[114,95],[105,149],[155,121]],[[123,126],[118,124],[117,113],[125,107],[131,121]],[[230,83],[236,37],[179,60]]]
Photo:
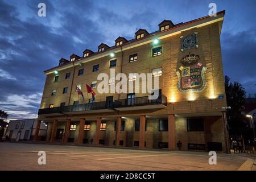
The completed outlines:
[[[190,54],[180,60],[177,69],[177,88],[180,92],[200,92],[205,88],[206,82],[204,73],[207,70],[200,62],[200,56]]]

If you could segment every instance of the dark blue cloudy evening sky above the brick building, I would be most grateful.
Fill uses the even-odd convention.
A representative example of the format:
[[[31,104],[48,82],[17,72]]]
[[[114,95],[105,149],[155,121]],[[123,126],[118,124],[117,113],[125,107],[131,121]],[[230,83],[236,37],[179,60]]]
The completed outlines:
[[[38,4],[46,4],[46,17]],[[42,97],[43,71],[61,57],[113,46],[136,28],[158,30],[163,19],[187,22],[208,15],[210,2],[226,10],[221,35],[224,73],[256,93],[256,1],[25,1],[0,0],[0,109],[9,119],[34,118]]]

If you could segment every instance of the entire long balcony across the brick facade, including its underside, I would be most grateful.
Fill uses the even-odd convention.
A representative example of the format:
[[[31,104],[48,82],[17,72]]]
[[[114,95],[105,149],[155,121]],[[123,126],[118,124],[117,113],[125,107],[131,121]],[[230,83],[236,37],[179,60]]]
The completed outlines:
[[[70,105],[63,107],[52,107],[39,109],[38,114],[61,115],[61,114],[86,114],[86,113],[108,113],[114,110],[139,110],[139,109],[161,109],[167,107],[166,96],[160,95],[155,100],[146,97],[126,98],[114,102],[93,102],[87,104]]]

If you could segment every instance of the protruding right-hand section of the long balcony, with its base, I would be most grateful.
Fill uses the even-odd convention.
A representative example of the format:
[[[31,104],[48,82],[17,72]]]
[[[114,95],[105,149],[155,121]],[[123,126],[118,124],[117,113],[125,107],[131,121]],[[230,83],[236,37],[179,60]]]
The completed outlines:
[[[149,100],[146,97],[125,98],[115,100],[114,108],[116,110],[139,110],[139,109],[161,109],[167,107],[167,97],[164,95],[158,96],[155,100]]]

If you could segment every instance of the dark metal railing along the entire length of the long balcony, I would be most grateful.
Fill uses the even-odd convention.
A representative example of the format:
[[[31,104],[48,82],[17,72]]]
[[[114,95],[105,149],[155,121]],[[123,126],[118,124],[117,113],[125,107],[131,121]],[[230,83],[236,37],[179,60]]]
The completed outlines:
[[[52,107],[46,109],[39,109],[38,114],[56,114],[56,113],[72,113],[78,111],[90,111],[100,109],[114,109],[118,107],[129,107],[129,106],[144,106],[144,105],[166,105],[166,96],[160,95],[155,100],[148,100],[146,97],[126,98],[121,100],[115,100],[114,102],[93,102],[87,104],[78,104],[63,107]]]

